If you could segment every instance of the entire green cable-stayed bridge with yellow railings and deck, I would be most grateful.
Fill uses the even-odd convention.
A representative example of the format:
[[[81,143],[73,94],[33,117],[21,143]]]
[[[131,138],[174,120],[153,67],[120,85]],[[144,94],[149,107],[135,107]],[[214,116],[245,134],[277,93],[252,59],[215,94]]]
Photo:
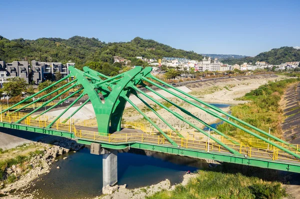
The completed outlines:
[[[83,67],[83,71],[70,66],[69,71],[70,74],[66,77],[24,98],[19,103],[1,110],[0,127],[73,138],[78,143],[91,145],[91,151],[96,151],[96,154],[108,154],[105,158],[113,150],[131,147],[300,173],[300,149],[298,149],[298,145],[289,144],[161,81],[150,74],[150,67],[143,69],[138,66],[114,77],[108,77],[86,66]],[[205,123],[201,118],[180,107],[174,100],[168,99],[155,91],[153,86],[194,106],[199,111],[204,111],[244,131],[246,134],[251,135],[252,138],[237,140],[226,136]],[[146,91],[150,91],[159,96],[163,101],[170,103],[177,108],[177,111],[168,108],[165,106],[165,103],[154,99]],[[168,129],[161,129],[143,113],[129,99],[131,94],[135,95],[146,105],[157,116],[157,119],[166,124]],[[51,120],[44,117],[48,111],[57,108],[58,105],[74,96],[77,96],[77,98],[59,115]],[[85,98],[87,96],[87,100],[76,107],[76,110],[69,114],[67,118],[61,119],[62,115],[82,99],[83,96]],[[101,100],[100,96],[104,100]],[[33,97],[38,98],[32,101]],[[58,100],[59,98],[60,100]],[[179,119],[188,124],[202,136],[198,138],[194,136],[182,136],[180,132],[175,130],[175,127],[171,126],[166,119],[155,111],[153,105],[151,105],[152,103],[147,103],[144,100],[145,98],[171,113],[174,119]],[[53,103],[55,100],[57,102]],[[143,124],[122,123],[122,114],[127,102],[143,116],[155,131],[150,131],[149,129],[151,128]],[[71,117],[87,103],[92,104],[96,118],[96,128],[78,126],[70,122]],[[36,104],[36,106],[34,109],[31,109],[30,107],[33,104]],[[202,130],[198,127],[199,125],[195,125],[186,119],[186,116],[197,121],[199,125],[206,126],[210,131],[206,132]],[[103,165],[104,162],[103,159]],[[109,167],[113,167],[111,164],[108,165]],[[108,173],[111,173],[111,171]],[[114,183],[109,182],[106,184],[111,185]]]

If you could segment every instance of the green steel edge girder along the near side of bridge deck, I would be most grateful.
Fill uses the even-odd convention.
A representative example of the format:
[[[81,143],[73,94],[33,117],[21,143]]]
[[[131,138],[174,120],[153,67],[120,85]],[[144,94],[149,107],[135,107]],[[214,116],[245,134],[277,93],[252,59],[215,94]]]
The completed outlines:
[[[99,143],[101,147],[108,149],[125,149],[127,147],[142,149],[154,152],[168,153],[173,155],[187,156],[192,158],[200,158],[200,159],[209,159],[220,162],[227,162],[233,164],[241,164],[248,165],[254,167],[261,167],[267,169],[288,171],[300,173],[300,163],[290,162],[290,161],[272,161],[267,159],[259,159],[259,158],[251,158],[251,157],[237,157],[232,154],[223,154],[223,153],[215,153],[202,150],[191,150],[185,148],[176,148],[171,145],[155,145],[152,143],[141,143],[141,142],[127,142],[127,143],[108,143],[104,141],[94,141],[90,139],[76,138],[73,133],[64,132],[55,129],[45,129],[40,127],[26,126],[22,124],[14,124],[14,123],[0,123],[0,127],[8,128],[8,129],[16,129],[21,131],[30,131],[34,133],[40,133],[44,135],[53,135],[65,138],[73,138],[77,139],[77,143],[90,145],[90,143]]]

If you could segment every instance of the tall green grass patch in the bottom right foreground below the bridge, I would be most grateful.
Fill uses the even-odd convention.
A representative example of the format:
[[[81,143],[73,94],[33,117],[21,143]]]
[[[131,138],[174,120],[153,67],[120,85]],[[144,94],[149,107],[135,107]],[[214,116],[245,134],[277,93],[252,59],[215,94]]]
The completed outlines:
[[[241,174],[198,171],[188,184],[162,190],[146,199],[282,199],[288,195],[278,182],[265,182]]]

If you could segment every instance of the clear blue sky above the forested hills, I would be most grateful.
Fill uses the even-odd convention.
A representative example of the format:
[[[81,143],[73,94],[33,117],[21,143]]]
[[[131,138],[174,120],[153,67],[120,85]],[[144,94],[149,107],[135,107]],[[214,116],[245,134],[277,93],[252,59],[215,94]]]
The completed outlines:
[[[0,0],[0,35],[130,41],[256,55],[300,46],[300,0]]]

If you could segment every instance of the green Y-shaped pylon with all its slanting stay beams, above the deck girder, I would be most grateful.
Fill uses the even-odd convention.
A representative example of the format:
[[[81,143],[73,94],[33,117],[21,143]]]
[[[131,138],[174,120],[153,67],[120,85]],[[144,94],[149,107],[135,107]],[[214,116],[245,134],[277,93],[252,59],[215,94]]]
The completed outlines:
[[[99,133],[104,133],[108,135],[111,132],[120,131],[121,130],[121,119],[123,115],[123,111],[125,108],[126,103],[132,105],[133,108],[135,108],[143,117],[146,119],[153,128],[157,129],[158,132],[161,133],[162,136],[164,136],[173,147],[178,147],[177,144],[171,139],[171,137],[167,136],[150,118],[148,118],[145,113],[143,113],[130,99],[129,96],[131,94],[135,95],[143,104],[145,104],[164,124],[166,124],[171,130],[175,130],[174,127],[172,127],[162,116],[159,115],[155,111],[155,109],[150,105],[150,103],[146,102],[145,98],[151,101],[152,103],[160,106],[161,108],[165,109],[169,113],[171,113],[174,118],[177,118],[184,123],[191,126],[193,129],[196,129],[200,133],[202,133],[205,136],[208,136],[207,132],[203,131],[201,128],[199,128],[197,125],[192,123],[191,121],[184,118],[184,114],[188,115],[189,117],[193,118],[197,122],[203,124],[204,126],[211,129],[211,131],[214,131],[216,134],[223,136],[224,138],[228,139],[233,144],[236,144],[234,140],[231,140],[230,138],[226,137],[222,132],[218,131],[217,129],[214,129],[209,124],[205,123],[201,120],[201,118],[196,117],[195,115],[191,114],[184,108],[180,107],[179,105],[175,104],[170,99],[167,99],[162,94],[158,93],[154,87],[161,89],[172,96],[187,102],[194,106],[195,108],[198,108],[215,118],[218,118],[230,125],[233,125],[234,127],[241,129],[245,133],[250,134],[253,137],[256,137],[257,139],[260,139],[284,152],[286,152],[289,155],[294,156],[297,159],[300,159],[300,155],[288,150],[284,147],[284,145],[288,144],[283,140],[280,140],[279,138],[268,134],[267,132],[264,132],[242,120],[239,120],[238,118],[231,116],[230,114],[223,112],[221,109],[212,106],[208,103],[205,103],[198,98],[195,98],[180,89],[173,87],[172,85],[169,85],[162,80],[154,77],[151,75],[151,67],[145,67],[142,68],[140,66],[134,67],[132,70],[123,72],[121,74],[118,74],[114,77],[109,77],[104,74],[101,74],[97,71],[94,71],[90,69],[87,66],[83,67],[83,71],[70,66],[69,71],[70,74],[66,77],[60,79],[57,82],[54,82],[52,85],[40,90],[39,92],[26,97],[22,101],[20,101],[17,104],[14,104],[13,106],[2,110],[1,113],[4,113],[6,111],[11,112],[18,112],[21,110],[26,109],[31,104],[34,104],[39,101],[44,101],[41,106],[35,108],[34,110],[31,110],[28,114],[26,114],[24,117],[20,118],[18,121],[15,122],[15,124],[20,123],[22,120],[26,119],[33,113],[37,111],[41,111],[44,108],[44,111],[39,113],[34,118],[37,118],[49,110],[57,107],[59,104],[62,104],[64,101],[68,100],[72,97],[77,97],[72,103],[69,104],[69,106],[62,111],[53,121],[50,122],[50,124],[46,127],[47,129],[51,129],[51,126],[63,115],[65,114],[72,106],[76,104],[83,96],[88,96],[88,99],[84,101],[78,108],[76,108],[75,111],[73,111],[64,121],[63,123],[67,122],[77,111],[79,111],[86,103],[91,103],[95,116],[96,116],[96,122],[97,122],[97,128]],[[73,80],[71,80],[73,79]],[[58,87],[58,88],[57,88]],[[55,88],[55,89],[54,89]],[[70,92],[73,91],[73,92]],[[146,91],[150,91],[153,94],[159,96],[162,100],[170,103],[177,109],[179,109],[181,112],[178,113],[171,108],[165,106],[160,101],[154,99],[152,96],[147,94]],[[39,97],[35,101],[26,103],[21,108],[16,109],[15,107],[17,105],[22,105],[24,102],[30,101],[33,97],[36,97],[37,95],[41,93],[47,93],[43,96]],[[57,100],[61,98],[62,96],[65,96],[66,93],[69,93],[67,97],[64,97],[63,99],[60,99],[57,101],[55,105],[48,106],[48,104],[54,100]],[[54,96],[53,96],[54,95]],[[53,97],[52,97],[53,96]],[[143,97],[142,97],[143,96]],[[50,98],[50,99],[48,99]],[[187,99],[190,98],[191,100]],[[193,100],[193,101],[192,101]],[[204,105],[205,107],[201,106]],[[208,109],[209,108],[209,109]],[[184,114],[182,114],[184,113]],[[226,119],[223,116],[227,116],[230,118]],[[263,134],[264,137],[261,135]],[[177,133],[178,137],[183,137],[179,133]],[[271,140],[283,143],[283,145],[278,145],[275,142]],[[213,135],[210,135],[210,139],[227,149],[231,154],[234,154],[236,156],[242,156],[239,154],[239,152],[235,151],[234,149],[228,147],[226,144],[222,143],[220,140],[215,138]]]

